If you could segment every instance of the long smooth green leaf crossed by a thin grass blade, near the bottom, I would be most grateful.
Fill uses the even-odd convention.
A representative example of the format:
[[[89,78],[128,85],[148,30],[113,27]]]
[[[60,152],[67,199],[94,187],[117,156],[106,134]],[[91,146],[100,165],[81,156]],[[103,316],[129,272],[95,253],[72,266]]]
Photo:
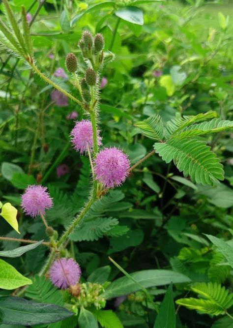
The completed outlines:
[[[174,284],[191,282],[187,276],[171,270],[142,270],[131,273],[131,276],[144,288],[168,285],[171,282]],[[137,290],[139,290],[137,284],[127,277],[121,277],[113,281],[102,296],[104,298],[115,298],[134,293]]]

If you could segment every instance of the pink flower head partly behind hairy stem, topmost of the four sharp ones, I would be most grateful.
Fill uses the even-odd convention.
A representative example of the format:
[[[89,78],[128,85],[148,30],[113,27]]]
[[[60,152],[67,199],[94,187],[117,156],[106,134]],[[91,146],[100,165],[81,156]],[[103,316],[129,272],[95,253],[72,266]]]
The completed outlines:
[[[81,154],[87,152],[89,147],[92,150],[93,147],[93,133],[91,121],[87,119],[82,119],[81,121],[76,121],[75,127],[70,133],[71,142],[76,151],[80,151]],[[97,131],[98,145],[101,145],[101,137],[99,136],[99,131]],[[87,147],[88,146],[88,147]]]

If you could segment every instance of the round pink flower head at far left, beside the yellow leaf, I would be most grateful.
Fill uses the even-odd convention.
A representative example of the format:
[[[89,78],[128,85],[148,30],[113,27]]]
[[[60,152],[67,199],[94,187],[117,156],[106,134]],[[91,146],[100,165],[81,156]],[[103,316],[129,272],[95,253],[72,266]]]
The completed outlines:
[[[42,185],[29,185],[21,197],[21,207],[27,215],[45,215],[45,209],[53,207],[47,187]]]

